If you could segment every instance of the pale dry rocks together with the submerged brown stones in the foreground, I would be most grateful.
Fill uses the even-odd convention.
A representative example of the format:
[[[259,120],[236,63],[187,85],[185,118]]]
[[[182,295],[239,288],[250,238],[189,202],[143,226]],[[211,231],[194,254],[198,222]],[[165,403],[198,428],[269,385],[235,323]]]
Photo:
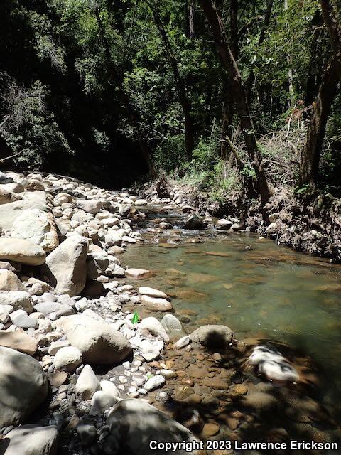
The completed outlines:
[[[178,222],[225,231],[238,220],[202,218],[177,195],[140,196],[0,174],[0,454],[164,453],[152,439],[338,441],[313,360],[237,340],[223,324],[188,331],[171,292],[151,286],[153,264],[125,264],[146,236],[178,242],[163,240]],[[165,219],[146,228],[153,205]],[[221,448],[200,453],[237,453]]]

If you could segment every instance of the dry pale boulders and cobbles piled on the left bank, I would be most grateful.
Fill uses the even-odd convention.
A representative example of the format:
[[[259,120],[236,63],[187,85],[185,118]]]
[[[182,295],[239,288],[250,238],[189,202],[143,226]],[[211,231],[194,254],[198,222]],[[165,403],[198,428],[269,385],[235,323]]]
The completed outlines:
[[[136,424],[148,424],[146,415],[155,414],[153,424],[180,429],[132,400],[175,375],[149,363],[161,359],[171,333],[172,339],[174,331],[178,338],[184,334],[173,315],[163,324],[154,317],[133,323],[136,305],[155,311],[172,305],[158,289],[141,286],[138,292],[119,281],[151,276],[117,257],[139,241],[133,223],[147,204],[72,178],[8,173],[1,180],[1,453],[56,454],[61,429],[70,453],[96,447],[111,453],[121,444],[112,422],[121,412],[129,418],[131,406],[140,416]],[[123,407],[122,397],[134,404]],[[48,411],[38,419],[40,405]],[[134,450],[137,455],[141,447]]]

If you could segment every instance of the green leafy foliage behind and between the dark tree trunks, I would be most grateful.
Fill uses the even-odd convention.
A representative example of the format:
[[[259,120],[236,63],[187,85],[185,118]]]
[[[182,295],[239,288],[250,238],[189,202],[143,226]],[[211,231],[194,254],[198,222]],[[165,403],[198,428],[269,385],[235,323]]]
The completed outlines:
[[[300,112],[313,102],[330,55],[319,1],[288,0],[288,9],[274,1],[266,29],[266,2],[237,3],[237,64],[244,82],[254,76],[248,88],[256,134],[261,139],[261,134],[282,130],[289,120],[289,129],[302,129],[310,111],[301,117]],[[190,38],[183,0],[155,4],[190,105],[193,160],[188,163],[185,154],[179,81],[146,1],[4,0],[0,134],[13,151],[22,152],[18,160],[23,167],[48,167],[60,156],[74,154],[96,164],[103,160],[102,168],[107,168],[108,157],[117,161],[124,155],[119,137],[137,151],[146,144],[158,170],[195,182],[217,200],[239,188],[233,160],[227,166],[219,158],[222,102],[232,89],[202,11],[195,11],[195,37]],[[222,1],[220,12],[232,42],[230,6]],[[322,155],[323,180],[335,186],[341,171],[340,125],[339,97]],[[231,127],[243,149],[236,112]],[[283,145],[261,141],[265,159],[287,165],[297,159],[287,139]],[[298,150],[301,144],[295,144]],[[242,174],[254,177],[247,156],[242,158]]]

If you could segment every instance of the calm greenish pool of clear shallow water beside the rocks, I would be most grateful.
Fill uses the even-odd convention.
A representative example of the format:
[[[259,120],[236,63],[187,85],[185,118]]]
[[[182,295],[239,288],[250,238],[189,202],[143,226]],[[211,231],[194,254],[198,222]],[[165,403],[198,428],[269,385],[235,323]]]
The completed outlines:
[[[171,295],[175,313],[190,316],[189,328],[224,323],[239,339],[286,342],[318,363],[325,401],[340,397],[341,267],[237,234],[133,245],[124,263],[155,272],[141,283]]]

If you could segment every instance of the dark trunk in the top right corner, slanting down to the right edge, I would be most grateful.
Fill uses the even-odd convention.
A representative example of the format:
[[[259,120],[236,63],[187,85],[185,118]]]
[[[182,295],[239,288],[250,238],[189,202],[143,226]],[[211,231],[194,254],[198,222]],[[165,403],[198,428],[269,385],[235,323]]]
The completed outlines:
[[[323,21],[327,27],[330,43],[332,44],[332,51],[335,57],[335,69],[341,79],[341,28],[338,23],[340,11],[337,11],[330,0],[320,0],[322,8]]]

